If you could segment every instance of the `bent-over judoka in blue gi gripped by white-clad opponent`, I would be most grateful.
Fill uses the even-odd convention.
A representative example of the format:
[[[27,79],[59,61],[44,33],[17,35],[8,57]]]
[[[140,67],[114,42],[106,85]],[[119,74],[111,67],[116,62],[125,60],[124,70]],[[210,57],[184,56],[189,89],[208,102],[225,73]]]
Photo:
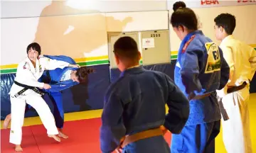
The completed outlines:
[[[60,56],[50,56],[43,55],[52,60],[60,60],[68,62],[70,64],[76,64],[75,60],[71,57],[64,55]],[[64,124],[64,110],[63,110],[63,97],[61,91],[68,89],[72,86],[85,82],[87,75],[93,72],[93,69],[87,68],[77,68],[77,67],[65,67],[63,69],[54,69],[47,70],[43,72],[43,75],[38,81],[50,84],[51,88],[43,90],[50,96],[51,101],[53,102],[53,116],[55,118],[55,125],[59,130],[59,136],[65,139],[68,138],[68,135],[63,133],[63,124]],[[25,113],[31,108],[28,104],[26,105]],[[4,120],[4,128],[7,128],[11,120],[11,114],[6,116]]]

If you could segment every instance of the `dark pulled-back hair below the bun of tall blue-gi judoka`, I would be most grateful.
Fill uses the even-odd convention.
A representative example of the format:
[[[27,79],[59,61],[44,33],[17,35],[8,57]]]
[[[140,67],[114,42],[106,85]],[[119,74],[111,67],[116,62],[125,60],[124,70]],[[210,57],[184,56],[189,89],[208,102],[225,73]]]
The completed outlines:
[[[191,8],[178,8],[171,14],[171,26],[185,26],[188,30],[198,30],[196,13]]]

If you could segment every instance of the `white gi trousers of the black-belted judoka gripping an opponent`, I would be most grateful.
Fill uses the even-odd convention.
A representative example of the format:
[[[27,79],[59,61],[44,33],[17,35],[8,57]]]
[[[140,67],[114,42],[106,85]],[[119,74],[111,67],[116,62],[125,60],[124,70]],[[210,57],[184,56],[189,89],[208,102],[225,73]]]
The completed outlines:
[[[48,135],[58,135],[53,114],[46,104],[46,101],[38,94],[28,94],[27,96],[11,97],[11,132],[10,141],[14,145],[21,145],[22,126],[26,103],[36,109]]]

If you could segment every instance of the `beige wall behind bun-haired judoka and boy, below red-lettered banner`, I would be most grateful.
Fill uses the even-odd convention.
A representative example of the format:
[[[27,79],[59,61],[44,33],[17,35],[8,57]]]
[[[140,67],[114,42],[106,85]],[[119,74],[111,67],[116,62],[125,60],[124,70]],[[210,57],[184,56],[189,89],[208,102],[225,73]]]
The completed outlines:
[[[256,44],[256,5],[193,8],[193,11],[199,16],[203,33],[214,42],[220,43],[214,36],[214,18],[220,13],[232,13],[237,20],[237,26],[233,33],[235,37],[247,44]],[[170,16],[172,12],[170,11]],[[170,28],[170,40],[171,50],[178,50],[181,41],[178,40],[172,28]]]

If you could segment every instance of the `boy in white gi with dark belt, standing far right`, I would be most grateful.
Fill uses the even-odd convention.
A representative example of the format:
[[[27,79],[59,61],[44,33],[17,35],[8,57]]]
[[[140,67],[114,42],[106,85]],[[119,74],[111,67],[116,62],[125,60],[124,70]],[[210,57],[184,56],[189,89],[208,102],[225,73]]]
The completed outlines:
[[[222,119],[223,142],[228,153],[250,153],[252,144],[247,101],[250,81],[256,69],[256,51],[232,35],[235,16],[221,13],[214,21],[215,37],[222,41],[220,48],[230,67],[228,84],[218,91],[229,118]]]

